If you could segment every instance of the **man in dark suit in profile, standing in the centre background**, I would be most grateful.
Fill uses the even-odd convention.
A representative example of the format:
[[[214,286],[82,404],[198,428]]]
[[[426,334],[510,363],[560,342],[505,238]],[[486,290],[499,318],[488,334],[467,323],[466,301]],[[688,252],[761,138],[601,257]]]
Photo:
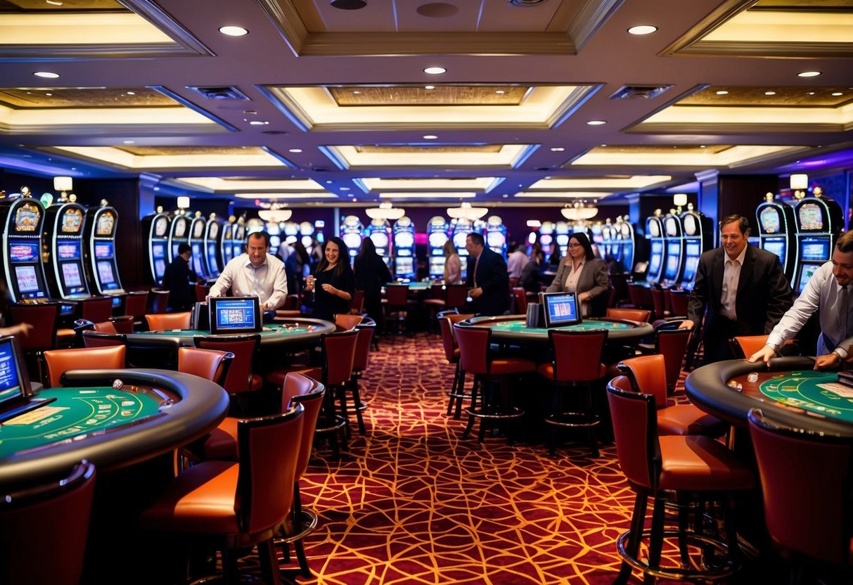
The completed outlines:
[[[485,247],[483,235],[471,232],[465,238],[468,251],[465,284],[471,302],[468,310],[480,315],[503,315],[509,308],[509,274],[503,257]]]

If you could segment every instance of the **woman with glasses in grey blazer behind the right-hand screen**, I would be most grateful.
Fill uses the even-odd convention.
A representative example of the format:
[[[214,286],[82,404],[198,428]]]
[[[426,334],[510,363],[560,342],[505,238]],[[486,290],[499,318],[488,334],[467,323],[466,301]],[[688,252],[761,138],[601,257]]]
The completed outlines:
[[[575,232],[569,236],[566,258],[560,261],[557,275],[545,292],[577,293],[583,316],[604,316],[606,308],[599,305],[606,300],[609,286],[607,264],[595,258],[587,235]]]

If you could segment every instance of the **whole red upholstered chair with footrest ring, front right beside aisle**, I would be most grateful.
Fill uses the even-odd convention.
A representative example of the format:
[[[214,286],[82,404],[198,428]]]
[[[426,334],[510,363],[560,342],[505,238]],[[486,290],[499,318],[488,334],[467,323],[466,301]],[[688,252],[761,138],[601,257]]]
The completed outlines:
[[[751,489],[752,472],[711,437],[659,436],[657,413],[660,410],[656,408],[655,397],[637,393],[631,386],[625,376],[617,376],[607,385],[619,467],[636,493],[630,530],[619,536],[617,542],[623,561],[614,583],[628,582],[632,567],[643,571],[646,582],[654,582],[655,576],[692,582],[732,575],[738,568],[740,548],[730,499],[733,492]],[[650,497],[652,527],[644,531]],[[691,501],[719,502],[724,541],[722,536],[715,537],[709,532],[715,523],[703,526],[704,513],[696,513],[694,525],[688,526],[686,506]],[[664,530],[667,502],[681,506],[675,532],[682,554],[681,566],[660,565],[664,538],[674,534]],[[695,535],[701,535],[701,541]],[[646,538],[648,552],[644,560],[640,558],[640,544]],[[713,564],[690,557],[691,554],[710,554],[710,549],[716,549],[718,555]]]

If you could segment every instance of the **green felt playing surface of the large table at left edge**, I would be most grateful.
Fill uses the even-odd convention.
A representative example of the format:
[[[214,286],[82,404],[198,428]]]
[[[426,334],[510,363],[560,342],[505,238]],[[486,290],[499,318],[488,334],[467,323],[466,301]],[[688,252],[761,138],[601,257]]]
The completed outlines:
[[[39,392],[38,397],[55,397],[55,402],[0,425],[0,459],[158,414],[165,399],[147,389],[137,390],[103,386],[48,388]]]

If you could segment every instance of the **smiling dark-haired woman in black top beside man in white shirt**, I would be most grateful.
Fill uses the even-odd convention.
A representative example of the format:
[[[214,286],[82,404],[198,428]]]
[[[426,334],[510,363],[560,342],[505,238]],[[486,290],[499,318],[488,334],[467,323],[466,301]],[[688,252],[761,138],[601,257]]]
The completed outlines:
[[[350,312],[350,301],[356,293],[356,276],[349,263],[350,251],[344,240],[333,236],[322,245],[322,260],[316,274],[305,281],[305,290],[314,291],[315,319],[334,321],[339,313]]]

